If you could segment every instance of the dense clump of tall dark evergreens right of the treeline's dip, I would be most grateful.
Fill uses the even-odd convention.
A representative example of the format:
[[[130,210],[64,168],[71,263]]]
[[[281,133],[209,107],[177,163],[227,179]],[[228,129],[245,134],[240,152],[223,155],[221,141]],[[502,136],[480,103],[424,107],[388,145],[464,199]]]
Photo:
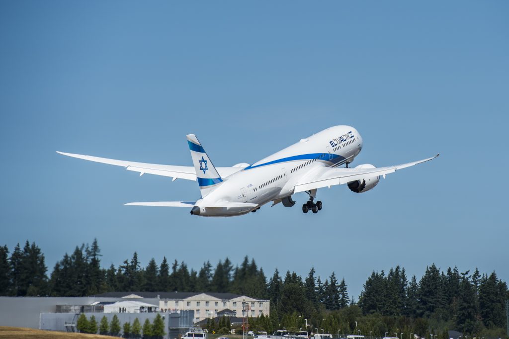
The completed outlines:
[[[480,274],[476,268],[460,273],[450,267],[444,273],[435,265],[426,268],[417,283],[407,280],[405,269],[397,266],[373,272],[364,284],[359,306],[364,314],[433,319],[447,322],[466,333],[479,333],[483,327],[505,325],[507,284],[495,272]]]

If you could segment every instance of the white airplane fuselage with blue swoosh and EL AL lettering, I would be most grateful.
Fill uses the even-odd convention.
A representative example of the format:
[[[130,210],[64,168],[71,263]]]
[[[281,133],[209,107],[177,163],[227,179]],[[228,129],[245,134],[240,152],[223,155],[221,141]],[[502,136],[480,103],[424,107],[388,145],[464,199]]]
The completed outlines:
[[[235,216],[258,209],[294,192],[296,183],[316,167],[352,162],[362,149],[362,138],[351,126],[334,126],[301,139],[234,173],[196,202],[201,216]],[[257,207],[207,207],[220,202],[257,204]]]

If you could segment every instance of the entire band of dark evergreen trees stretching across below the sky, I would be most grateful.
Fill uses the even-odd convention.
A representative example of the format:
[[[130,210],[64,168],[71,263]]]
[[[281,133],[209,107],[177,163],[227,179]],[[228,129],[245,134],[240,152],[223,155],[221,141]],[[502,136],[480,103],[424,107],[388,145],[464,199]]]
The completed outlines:
[[[0,247],[0,295],[92,296],[108,291],[229,292],[271,300],[270,316],[250,319],[253,329],[274,331],[281,327],[329,333],[372,332],[383,336],[410,333],[437,334],[448,339],[447,329],[485,337],[504,334],[505,299],[509,292],[495,272],[475,269],[460,273],[436,265],[427,267],[419,281],[408,281],[399,266],[373,272],[358,303],[349,296],[345,279],[334,272],[322,280],[315,269],[302,278],[276,269],[267,280],[262,268],[247,257],[240,266],[226,258],[215,267],[210,262],[195,271],[184,262],[166,258],[158,265],[151,259],[143,267],[134,252],[121,265],[102,268],[97,240],[77,246],[56,263],[49,276],[44,255],[35,244],[17,245],[12,253]],[[210,325],[212,326],[212,325]],[[400,335],[401,336],[401,335]]]

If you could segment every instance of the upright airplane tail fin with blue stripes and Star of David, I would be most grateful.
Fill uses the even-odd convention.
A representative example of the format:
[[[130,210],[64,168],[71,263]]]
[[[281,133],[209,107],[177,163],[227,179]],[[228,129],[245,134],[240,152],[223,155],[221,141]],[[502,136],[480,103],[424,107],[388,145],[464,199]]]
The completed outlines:
[[[194,170],[196,171],[196,179],[198,180],[202,197],[205,197],[222,183],[222,179],[196,135],[188,134],[186,137],[189,150],[191,151]]]

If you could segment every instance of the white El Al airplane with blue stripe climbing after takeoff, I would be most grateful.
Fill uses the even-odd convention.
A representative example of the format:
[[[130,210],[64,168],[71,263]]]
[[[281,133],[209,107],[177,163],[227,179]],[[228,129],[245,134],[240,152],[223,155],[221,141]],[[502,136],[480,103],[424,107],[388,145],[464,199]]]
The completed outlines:
[[[314,200],[322,187],[346,184],[355,193],[373,189],[380,177],[432,160],[439,154],[414,162],[388,167],[361,164],[348,165],[362,149],[359,132],[346,125],[333,126],[312,136],[300,139],[285,149],[252,164],[238,163],[231,167],[215,167],[202,144],[194,134],[188,134],[187,144],[193,166],[162,165],[100,158],[89,155],[57,153],[74,158],[123,166],[128,171],[154,174],[176,179],[198,181],[201,199],[197,201],[169,201],[128,203],[129,206],[185,207],[192,215],[230,217],[256,212],[263,205],[281,203],[292,207],[292,195],[305,192],[309,200],[302,212],[318,213],[321,201]],[[346,167],[340,167],[345,164]]]

